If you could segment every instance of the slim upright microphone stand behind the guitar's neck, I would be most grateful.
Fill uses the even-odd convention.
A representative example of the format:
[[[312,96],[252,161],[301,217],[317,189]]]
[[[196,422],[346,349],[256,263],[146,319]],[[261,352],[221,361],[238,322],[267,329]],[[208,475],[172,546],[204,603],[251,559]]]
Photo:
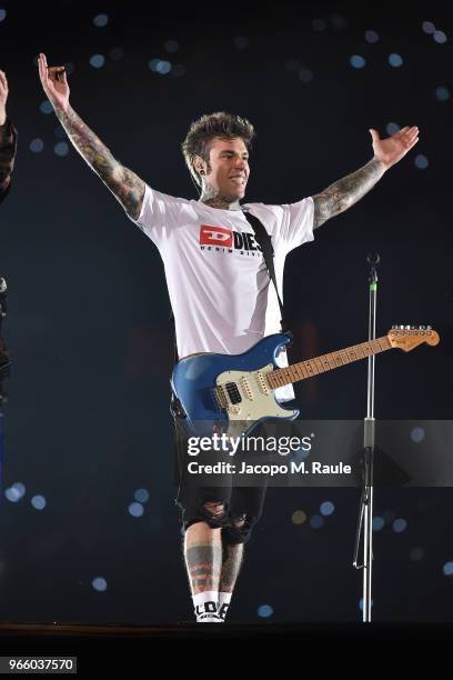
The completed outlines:
[[[366,261],[370,266],[370,312],[369,340],[376,337],[376,298],[378,271],[380,262],[378,253],[369,254]],[[360,499],[359,521],[355,536],[354,562],[355,569],[363,569],[363,621],[371,621],[371,576],[373,563],[373,466],[375,451],[375,421],[374,421],[374,354],[368,360],[368,399],[366,418],[363,428],[363,479],[362,496]],[[363,527],[363,564],[358,563],[359,544]]]

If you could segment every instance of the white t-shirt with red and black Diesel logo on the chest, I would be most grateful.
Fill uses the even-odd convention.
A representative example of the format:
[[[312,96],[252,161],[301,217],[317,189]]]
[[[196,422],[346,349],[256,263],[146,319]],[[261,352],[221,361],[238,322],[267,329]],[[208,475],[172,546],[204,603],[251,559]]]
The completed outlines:
[[[283,267],[293,248],[313,240],[313,199],[266,206],[244,203],[264,224],[274,248],[282,297]],[[279,333],[280,308],[264,258],[242,210],[210,208],[145,187],[134,221],[162,257],[174,313],[178,354],[240,354],[264,336]],[[279,364],[288,366],[286,352]],[[280,400],[294,398],[291,386]]]

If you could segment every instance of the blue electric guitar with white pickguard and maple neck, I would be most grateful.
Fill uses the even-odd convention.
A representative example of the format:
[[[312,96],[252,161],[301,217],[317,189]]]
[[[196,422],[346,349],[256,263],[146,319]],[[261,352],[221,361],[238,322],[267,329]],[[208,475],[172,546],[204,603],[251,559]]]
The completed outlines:
[[[279,368],[275,358],[290,342],[284,333],[263,338],[243,354],[191,354],[177,363],[171,378],[174,396],[193,433],[245,436],[263,420],[294,420],[298,410],[285,409],[274,397],[284,384],[365,359],[391,348],[410,351],[426,342],[439,343],[430,326],[397,326],[383,338],[361,342],[338,352]],[[214,428],[214,429],[213,429]]]

